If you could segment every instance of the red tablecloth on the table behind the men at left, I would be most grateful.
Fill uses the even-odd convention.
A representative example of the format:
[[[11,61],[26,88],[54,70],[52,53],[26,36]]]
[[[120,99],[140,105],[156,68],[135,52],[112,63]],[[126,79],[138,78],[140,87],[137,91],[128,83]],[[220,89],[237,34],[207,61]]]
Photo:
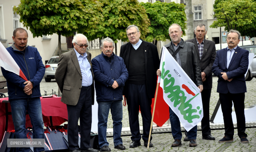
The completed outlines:
[[[61,125],[64,122],[68,121],[68,111],[67,105],[60,101],[61,97],[41,97],[41,106],[44,126],[50,126],[50,116],[52,116],[53,126]],[[0,139],[3,139],[5,125],[6,125],[6,111],[5,103],[2,103],[3,100],[8,100],[8,98],[0,98]],[[8,112],[11,112],[10,103],[8,104]],[[26,115],[26,128],[31,127],[30,117]],[[8,115],[8,128],[7,131],[14,130],[14,125],[12,122],[12,115]]]

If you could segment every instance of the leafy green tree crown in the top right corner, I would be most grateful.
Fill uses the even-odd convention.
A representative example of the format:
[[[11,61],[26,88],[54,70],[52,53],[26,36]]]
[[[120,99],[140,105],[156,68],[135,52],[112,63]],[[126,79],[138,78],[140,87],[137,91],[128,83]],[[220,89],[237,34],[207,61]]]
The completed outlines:
[[[210,27],[225,27],[238,30],[241,35],[256,37],[256,3],[255,0],[216,0],[213,5],[217,19]]]

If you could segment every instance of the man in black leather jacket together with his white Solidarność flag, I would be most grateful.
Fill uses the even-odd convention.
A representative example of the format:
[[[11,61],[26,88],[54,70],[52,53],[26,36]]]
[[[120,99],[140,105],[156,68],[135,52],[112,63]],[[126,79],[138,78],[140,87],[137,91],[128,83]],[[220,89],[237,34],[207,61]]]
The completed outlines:
[[[169,27],[171,42],[162,48],[158,83],[163,89],[163,99],[169,105],[174,143],[181,146],[181,124],[188,131],[189,146],[197,146],[197,124],[203,118],[201,69],[195,44],[185,42],[179,24]],[[176,62],[175,62],[175,60]]]

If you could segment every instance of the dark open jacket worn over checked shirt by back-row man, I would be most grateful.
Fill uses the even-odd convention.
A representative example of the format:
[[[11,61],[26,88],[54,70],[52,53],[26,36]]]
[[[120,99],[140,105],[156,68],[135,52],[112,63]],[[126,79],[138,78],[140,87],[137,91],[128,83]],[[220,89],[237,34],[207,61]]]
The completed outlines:
[[[196,38],[186,40],[186,42],[194,43],[196,45],[196,49],[198,50]],[[198,58],[199,58],[201,72],[204,72],[206,74],[206,80],[203,82],[203,89],[212,88],[212,65],[214,63],[215,57],[216,57],[215,42],[204,39],[203,55],[201,59],[199,57],[199,51],[198,51]]]

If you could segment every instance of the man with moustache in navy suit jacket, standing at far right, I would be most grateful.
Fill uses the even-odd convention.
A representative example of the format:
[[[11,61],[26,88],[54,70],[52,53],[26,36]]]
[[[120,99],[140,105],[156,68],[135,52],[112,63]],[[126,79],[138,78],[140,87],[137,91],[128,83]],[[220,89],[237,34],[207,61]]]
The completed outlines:
[[[225,133],[219,143],[233,142],[232,101],[234,103],[238,136],[242,143],[248,143],[245,133],[245,73],[248,69],[249,51],[238,46],[240,33],[230,30],[227,33],[228,47],[217,51],[212,72],[219,78],[217,92],[220,93]]]

